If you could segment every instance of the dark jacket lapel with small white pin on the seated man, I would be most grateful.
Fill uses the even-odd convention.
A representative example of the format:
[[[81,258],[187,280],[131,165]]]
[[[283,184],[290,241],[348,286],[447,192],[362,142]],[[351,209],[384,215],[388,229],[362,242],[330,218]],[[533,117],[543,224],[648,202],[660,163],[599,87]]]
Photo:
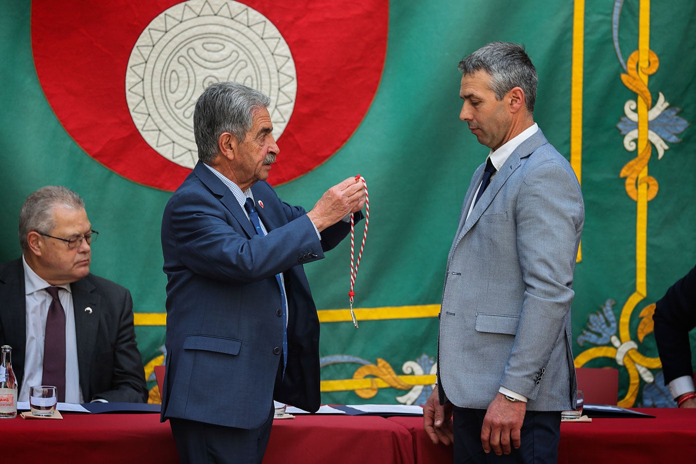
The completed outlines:
[[[86,402],[90,401],[88,373],[93,371],[92,360],[97,346],[97,332],[101,319],[100,311],[102,311],[102,298],[93,292],[94,289],[94,285],[85,279],[70,284],[72,312],[75,318],[80,388]]]

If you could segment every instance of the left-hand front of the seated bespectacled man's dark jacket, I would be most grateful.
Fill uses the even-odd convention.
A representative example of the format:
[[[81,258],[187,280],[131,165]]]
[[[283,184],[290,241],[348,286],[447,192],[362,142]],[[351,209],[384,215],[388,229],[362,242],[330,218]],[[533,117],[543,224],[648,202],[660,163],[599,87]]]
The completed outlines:
[[[24,378],[26,355],[26,296],[24,295],[24,266],[22,259],[8,263],[0,274],[0,325],[4,343],[12,346],[13,369],[17,381]],[[11,330],[10,330],[11,328]]]

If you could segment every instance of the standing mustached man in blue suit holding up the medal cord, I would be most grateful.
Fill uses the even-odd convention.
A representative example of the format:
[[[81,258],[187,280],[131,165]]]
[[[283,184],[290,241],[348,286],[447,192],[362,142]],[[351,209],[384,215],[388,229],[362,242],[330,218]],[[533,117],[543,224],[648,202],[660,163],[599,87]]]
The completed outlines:
[[[269,98],[215,83],[193,114],[198,164],[164,210],[169,419],[184,463],[260,463],[273,399],[319,408],[319,320],[303,264],[365,204],[354,177],[306,212],[266,182],[279,149]]]

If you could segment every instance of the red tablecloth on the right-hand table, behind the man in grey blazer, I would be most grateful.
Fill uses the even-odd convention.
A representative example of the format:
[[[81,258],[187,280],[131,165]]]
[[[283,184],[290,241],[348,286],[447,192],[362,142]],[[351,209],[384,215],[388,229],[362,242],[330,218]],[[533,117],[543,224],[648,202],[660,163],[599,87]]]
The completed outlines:
[[[696,463],[696,409],[636,409],[650,418],[562,422],[559,464]],[[433,445],[422,417],[390,417],[413,435],[418,464],[452,462],[452,447]]]

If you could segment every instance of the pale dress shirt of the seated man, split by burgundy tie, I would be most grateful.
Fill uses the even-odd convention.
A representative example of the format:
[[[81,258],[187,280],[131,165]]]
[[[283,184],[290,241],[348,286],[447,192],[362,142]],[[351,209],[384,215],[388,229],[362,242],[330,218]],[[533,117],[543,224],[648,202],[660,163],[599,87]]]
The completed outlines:
[[[18,401],[29,401],[29,387],[42,385],[43,353],[46,335],[46,318],[53,298],[45,290],[51,284],[40,278],[29,264],[24,265],[24,293],[26,301],[26,354],[24,355],[24,378]],[[84,403],[80,390],[79,367],[77,365],[77,337],[70,284],[56,285],[58,298],[65,311],[65,402]]]

